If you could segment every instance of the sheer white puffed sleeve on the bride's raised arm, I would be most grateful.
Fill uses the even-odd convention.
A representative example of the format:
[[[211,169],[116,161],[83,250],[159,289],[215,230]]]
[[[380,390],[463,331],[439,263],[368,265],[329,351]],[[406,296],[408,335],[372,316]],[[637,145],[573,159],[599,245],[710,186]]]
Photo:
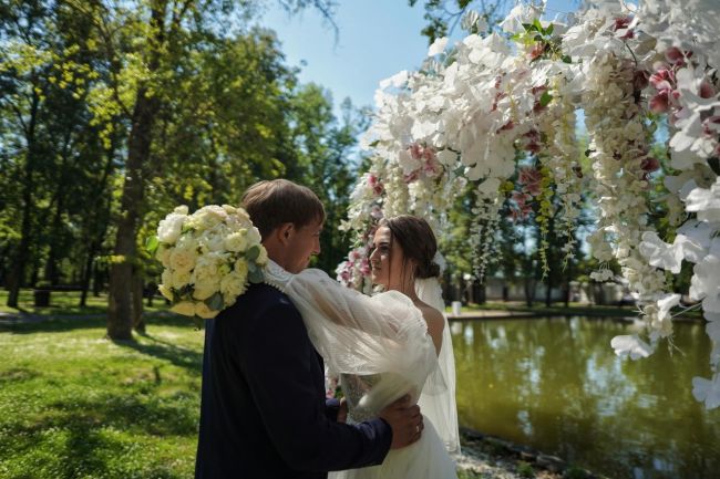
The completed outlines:
[[[407,392],[418,398],[438,358],[422,313],[408,296],[397,291],[366,296],[312,269],[292,275],[284,289],[330,369],[402,377],[393,383],[405,391],[390,392],[381,403]]]

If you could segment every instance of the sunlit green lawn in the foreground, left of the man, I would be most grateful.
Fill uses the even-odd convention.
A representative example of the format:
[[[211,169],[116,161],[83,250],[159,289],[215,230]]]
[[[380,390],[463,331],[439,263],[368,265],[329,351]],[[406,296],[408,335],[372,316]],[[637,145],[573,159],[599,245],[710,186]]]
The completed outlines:
[[[202,331],[150,320],[135,342],[104,320],[0,325],[0,478],[192,478]]]

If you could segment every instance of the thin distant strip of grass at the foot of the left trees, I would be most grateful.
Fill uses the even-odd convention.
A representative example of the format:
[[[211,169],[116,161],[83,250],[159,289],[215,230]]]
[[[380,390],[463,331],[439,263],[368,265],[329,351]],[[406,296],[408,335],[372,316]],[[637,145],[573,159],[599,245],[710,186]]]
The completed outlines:
[[[50,293],[50,306],[35,308],[33,304],[32,290],[20,290],[20,299],[18,305],[20,308],[8,308],[8,291],[0,290],[0,312],[1,313],[31,313],[31,314],[52,314],[52,315],[83,315],[83,314],[104,314],[107,312],[107,294],[93,296],[92,293],[88,294],[86,305],[80,308],[80,291],[53,291]],[[144,311],[156,312],[165,311],[165,300],[157,296],[153,300],[153,306],[147,308],[147,302],[144,302]]]

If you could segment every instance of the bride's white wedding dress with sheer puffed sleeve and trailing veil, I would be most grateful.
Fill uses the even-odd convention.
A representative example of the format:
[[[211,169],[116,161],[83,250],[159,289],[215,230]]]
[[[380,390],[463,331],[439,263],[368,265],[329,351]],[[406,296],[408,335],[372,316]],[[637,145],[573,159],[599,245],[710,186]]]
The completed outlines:
[[[380,466],[330,472],[329,479],[455,479],[450,452],[460,452],[460,441],[448,323],[438,355],[422,313],[400,292],[367,296],[323,271],[291,274],[272,261],[265,277],[298,308],[326,367],[340,375],[349,423],[377,417],[408,393],[424,416],[416,442],[390,450]],[[425,303],[442,308],[436,280],[419,281],[416,289]]]

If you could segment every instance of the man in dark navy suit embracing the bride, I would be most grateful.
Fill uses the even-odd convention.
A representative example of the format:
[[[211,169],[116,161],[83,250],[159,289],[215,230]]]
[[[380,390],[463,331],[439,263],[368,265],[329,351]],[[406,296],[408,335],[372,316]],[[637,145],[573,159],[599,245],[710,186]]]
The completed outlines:
[[[270,260],[291,273],[320,252],[325,209],[308,188],[277,179],[246,192],[243,206]],[[380,418],[338,423],[325,399],[322,360],[289,299],[253,284],[207,322],[196,479],[320,479],[379,465],[390,448],[420,438],[418,406],[402,398]]]

